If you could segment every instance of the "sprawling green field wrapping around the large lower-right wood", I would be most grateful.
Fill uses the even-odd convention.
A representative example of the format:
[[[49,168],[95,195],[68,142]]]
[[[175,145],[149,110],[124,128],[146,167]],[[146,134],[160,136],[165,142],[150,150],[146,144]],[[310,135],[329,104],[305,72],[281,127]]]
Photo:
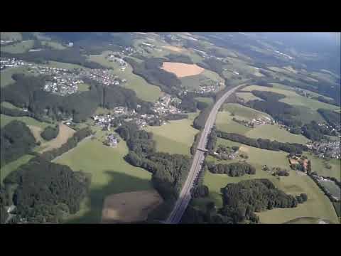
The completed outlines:
[[[227,146],[240,146],[239,143],[229,142],[225,139],[219,139],[218,144],[225,144]],[[209,171],[205,173],[204,184],[210,189],[210,198],[215,201],[217,207],[222,206],[222,197],[220,195],[220,188],[227,185],[227,183],[237,183],[242,180],[250,178],[269,178],[276,187],[280,188],[286,193],[297,195],[300,193],[307,193],[308,201],[299,205],[297,208],[284,208],[266,210],[259,213],[261,223],[286,223],[289,220],[300,217],[323,218],[330,220],[332,223],[338,223],[335,210],[330,203],[327,196],[324,195],[320,188],[314,183],[309,176],[298,173],[290,169],[288,159],[286,159],[286,152],[283,151],[269,151],[266,149],[256,149],[251,146],[242,145],[240,151],[244,151],[249,155],[247,162],[256,168],[255,175],[244,175],[242,177],[229,177],[226,174],[211,174]],[[271,176],[267,171],[262,171],[261,166],[266,164],[268,166],[279,166],[290,170],[288,177],[281,177],[280,180]],[[195,205],[202,206],[209,198],[202,198],[195,200]]]

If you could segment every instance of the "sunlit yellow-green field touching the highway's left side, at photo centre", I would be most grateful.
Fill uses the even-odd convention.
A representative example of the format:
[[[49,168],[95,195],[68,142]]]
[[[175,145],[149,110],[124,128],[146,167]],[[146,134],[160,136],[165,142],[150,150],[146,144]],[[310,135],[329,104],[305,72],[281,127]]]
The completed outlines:
[[[198,130],[192,127],[197,114],[190,114],[189,119],[169,121],[160,127],[146,127],[146,131],[153,133],[156,150],[170,154],[190,155],[190,146]]]

